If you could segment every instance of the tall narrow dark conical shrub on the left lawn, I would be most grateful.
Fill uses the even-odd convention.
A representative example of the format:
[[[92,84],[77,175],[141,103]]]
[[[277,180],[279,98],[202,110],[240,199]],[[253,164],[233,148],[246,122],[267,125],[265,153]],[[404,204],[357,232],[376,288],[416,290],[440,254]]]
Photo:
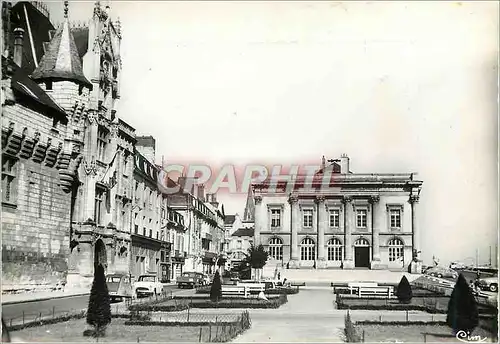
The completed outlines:
[[[87,324],[94,326],[96,337],[104,336],[106,326],[111,322],[111,301],[109,297],[104,267],[96,264],[94,282],[90,290]]]

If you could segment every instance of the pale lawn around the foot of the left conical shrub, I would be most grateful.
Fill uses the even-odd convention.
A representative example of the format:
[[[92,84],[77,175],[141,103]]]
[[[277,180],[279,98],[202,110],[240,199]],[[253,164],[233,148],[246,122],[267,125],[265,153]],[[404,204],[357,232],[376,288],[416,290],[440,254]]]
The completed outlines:
[[[113,319],[106,337],[99,342],[198,342],[200,326],[126,326],[125,319]],[[208,342],[210,329],[202,327],[202,341]],[[96,342],[95,338],[84,337],[88,328],[85,319],[70,320],[62,323],[31,327],[13,331],[11,335],[23,342]],[[212,329],[212,331],[214,331]],[[212,333],[212,336],[215,332]]]

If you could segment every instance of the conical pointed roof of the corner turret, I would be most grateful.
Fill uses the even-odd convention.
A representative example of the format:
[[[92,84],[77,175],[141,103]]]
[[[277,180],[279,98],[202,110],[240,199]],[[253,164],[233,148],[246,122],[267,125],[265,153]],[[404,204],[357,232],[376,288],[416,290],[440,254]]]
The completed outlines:
[[[57,29],[31,78],[69,80],[92,89],[92,84],[83,74],[82,62],[67,19]]]

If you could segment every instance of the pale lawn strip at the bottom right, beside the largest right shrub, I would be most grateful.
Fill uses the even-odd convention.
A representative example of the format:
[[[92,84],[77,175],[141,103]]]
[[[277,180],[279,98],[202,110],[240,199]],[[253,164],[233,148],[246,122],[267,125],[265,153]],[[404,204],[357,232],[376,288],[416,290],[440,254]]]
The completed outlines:
[[[451,335],[451,330],[442,325],[357,325],[360,334],[364,331],[367,343],[460,343]],[[472,336],[488,338],[485,342],[494,343],[492,335],[481,328],[477,328]]]

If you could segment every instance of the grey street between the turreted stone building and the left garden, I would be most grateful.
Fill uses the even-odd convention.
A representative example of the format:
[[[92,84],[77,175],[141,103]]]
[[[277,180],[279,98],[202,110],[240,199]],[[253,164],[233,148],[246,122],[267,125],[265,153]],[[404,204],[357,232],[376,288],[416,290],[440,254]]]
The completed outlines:
[[[194,289],[178,289],[176,285],[164,286],[167,293],[172,291],[173,294],[191,295],[194,294]],[[67,312],[77,312],[85,310],[88,307],[89,295],[82,296],[69,296],[64,298],[56,298],[51,300],[30,301],[22,303],[13,303],[2,305],[2,317],[7,325],[18,324],[25,321],[32,321],[40,316],[59,316]],[[112,309],[115,304],[122,302],[112,303]]]

